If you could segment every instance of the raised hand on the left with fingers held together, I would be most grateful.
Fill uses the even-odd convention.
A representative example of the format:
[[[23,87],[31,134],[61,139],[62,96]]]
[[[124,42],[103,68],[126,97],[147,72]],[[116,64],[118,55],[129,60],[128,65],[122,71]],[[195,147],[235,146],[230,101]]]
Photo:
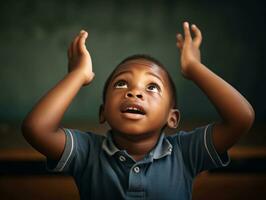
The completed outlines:
[[[68,72],[78,71],[84,77],[84,84],[89,84],[94,78],[90,54],[85,42],[88,33],[84,30],[75,37],[68,48]]]

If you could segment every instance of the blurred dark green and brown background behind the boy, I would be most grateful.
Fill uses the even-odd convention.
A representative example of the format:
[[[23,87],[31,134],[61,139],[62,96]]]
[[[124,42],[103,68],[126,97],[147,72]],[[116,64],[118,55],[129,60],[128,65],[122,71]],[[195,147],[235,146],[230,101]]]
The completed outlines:
[[[199,88],[181,76],[175,34],[185,20],[202,30],[202,62],[239,90],[256,112],[250,133],[230,152],[231,165],[200,176],[194,199],[213,199],[217,192],[220,199],[254,195],[265,199],[264,7],[260,1],[209,0],[1,3],[0,199],[78,198],[71,178],[45,171],[44,157],[25,142],[20,125],[40,97],[67,73],[66,51],[81,29],[89,32],[87,48],[96,77],[71,104],[64,126],[106,132],[108,126],[98,123],[104,82],[122,59],[136,53],[150,54],[169,69],[181,111],[178,130],[219,119]]]

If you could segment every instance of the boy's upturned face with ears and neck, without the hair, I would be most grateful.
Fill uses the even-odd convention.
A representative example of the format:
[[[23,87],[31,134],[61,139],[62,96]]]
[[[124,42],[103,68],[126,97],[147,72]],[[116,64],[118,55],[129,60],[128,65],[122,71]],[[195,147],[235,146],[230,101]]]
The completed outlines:
[[[100,121],[111,126],[120,149],[140,160],[155,146],[164,125],[177,127],[179,112],[173,109],[171,95],[168,75],[161,67],[143,59],[127,61],[110,81]],[[142,114],[129,113],[129,108]]]

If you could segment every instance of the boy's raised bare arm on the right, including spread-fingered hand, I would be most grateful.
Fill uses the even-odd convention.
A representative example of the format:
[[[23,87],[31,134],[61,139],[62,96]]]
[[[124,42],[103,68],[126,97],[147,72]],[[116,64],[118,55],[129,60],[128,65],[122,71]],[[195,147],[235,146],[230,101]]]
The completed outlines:
[[[241,135],[251,128],[255,114],[248,101],[230,84],[217,76],[200,60],[202,35],[199,28],[189,23],[183,24],[184,37],[177,34],[177,47],[181,53],[181,72],[193,81],[213,103],[221,116],[221,121],[213,127],[213,142],[219,153],[234,145]]]

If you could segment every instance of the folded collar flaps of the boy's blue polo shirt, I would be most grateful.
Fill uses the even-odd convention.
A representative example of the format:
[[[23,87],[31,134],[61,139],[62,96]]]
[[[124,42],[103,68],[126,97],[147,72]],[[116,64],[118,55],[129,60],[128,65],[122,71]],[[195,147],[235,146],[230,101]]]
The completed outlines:
[[[151,150],[149,155],[153,159],[160,159],[164,156],[170,155],[172,153],[172,148],[172,144],[166,138],[165,134],[162,133],[157,141],[156,146]],[[110,156],[113,156],[116,152],[121,151],[115,146],[111,131],[108,131],[107,137],[102,143],[102,149]]]

